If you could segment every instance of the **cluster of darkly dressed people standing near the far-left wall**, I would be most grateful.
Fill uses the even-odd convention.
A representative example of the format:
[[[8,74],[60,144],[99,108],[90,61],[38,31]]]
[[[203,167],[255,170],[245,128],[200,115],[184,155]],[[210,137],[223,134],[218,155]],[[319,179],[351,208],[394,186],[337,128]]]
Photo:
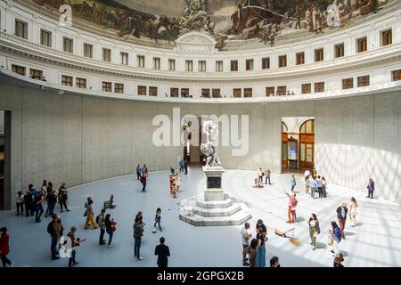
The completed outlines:
[[[53,216],[54,208],[57,205],[57,201],[60,204],[61,212],[63,208],[70,212],[68,208],[68,193],[65,183],[62,183],[59,190],[53,190],[53,183],[47,183],[46,180],[43,181],[42,186],[37,191],[32,184],[29,184],[28,191],[25,195],[22,191],[17,192],[16,196],[16,208],[17,216],[34,216],[37,223],[41,222],[41,216],[45,212],[45,217]],[[43,208],[43,203],[47,204],[46,209]]]

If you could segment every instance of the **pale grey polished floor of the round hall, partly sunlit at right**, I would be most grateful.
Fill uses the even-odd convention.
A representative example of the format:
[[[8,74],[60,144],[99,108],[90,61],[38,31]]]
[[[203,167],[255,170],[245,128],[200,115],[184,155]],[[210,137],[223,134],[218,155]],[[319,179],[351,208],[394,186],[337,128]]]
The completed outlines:
[[[223,175],[225,191],[244,201],[250,208],[254,229],[256,220],[262,218],[268,230],[266,264],[272,256],[279,256],[282,266],[331,266],[332,256],[326,245],[331,220],[336,219],[335,209],[341,202],[355,196],[359,204],[357,227],[346,226],[347,240],[340,243],[345,255],[345,266],[401,266],[401,207],[381,199],[366,199],[364,191],[331,185],[329,197],[312,199],[306,195],[302,177],[298,177],[298,222],[291,226],[287,221],[288,198],[283,189],[290,189],[290,175],[272,175],[272,186],[252,188],[256,172],[227,170]],[[363,179],[363,178],[362,178]],[[170,248],[170,266],[241,266],[241,226],[194,227],[178,219],[179,201],[198,193],[204,187],[201,169],[183,175],[182,191],[177,199],[169,195],[168,171],[151,173],[147,191],[134,175],[118,177],[71,188],[71,212],[59,213],[66,231],[71,225],[78,227],[77,236],[86,242],[77,250],[78,266],[156,266],[154,247],[160,236],[166,238]],[[378,190],[380,191],[380,190]],[[102,208],[102,201],[114,194],[117,208],[108,213],[118,223],[113,247],[99,246],[99,230],[84,230],[84,203],[88,195],[94,199],[95,214]],[[152,233],[156,208],[162,209],[163,232]],[[132,225],[137,211],[143,211],[146,223],[141,248],[143,261],[134,258]],[[307,218],[315,213],[321,224],[318,248],[309,245]],[[50,237],[46,232],[47,221],[36,224],[33,217],[16,216],[14,211],[0,212],[0,226],[7,226],[11,237],[11,253],[15,266],[67,266],[68,260],[50,260]],[[301,242],[294,246],[288,239],[274,235],[274,228],[282,231],[295,227],[294,237]],[[66,232],[65,232],[66,233]],[[107,234],[105,238],[108,238]]]

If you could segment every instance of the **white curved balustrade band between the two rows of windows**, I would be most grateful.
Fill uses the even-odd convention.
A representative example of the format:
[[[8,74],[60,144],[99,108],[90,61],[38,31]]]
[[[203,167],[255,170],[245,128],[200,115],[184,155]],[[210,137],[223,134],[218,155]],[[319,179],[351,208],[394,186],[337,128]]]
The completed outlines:
[[[374,60],[400,57],[401,43],[381,46],[364,53],[356,53],[341,58],[331,59],[328,61],[319,61],[296,65],[285,68],[253,70],[240,72],[184,72],[184,71],[168,71],[143,69],[133,66],[121,65],[116,63],[98,61],[91,58],[79,56],[74,53],[66,53],[45,45],[38,45],[21,37],[0,31],[1,45],[18,50],[20,52],[34,54],[43,58],[50,58],[54,61],[60,61],[84,69],[94,69],[99,72],[109,72],[125,77],[149,77],[170,80],[195,80],[195,81],[233,81],[233,80],[258,80],[277,77],[291,77],[293,75],[308,74],[321,72],[324,70],[344,69],[348,66],[372,63]],[[179,54],[177,54],[177,57]]]

